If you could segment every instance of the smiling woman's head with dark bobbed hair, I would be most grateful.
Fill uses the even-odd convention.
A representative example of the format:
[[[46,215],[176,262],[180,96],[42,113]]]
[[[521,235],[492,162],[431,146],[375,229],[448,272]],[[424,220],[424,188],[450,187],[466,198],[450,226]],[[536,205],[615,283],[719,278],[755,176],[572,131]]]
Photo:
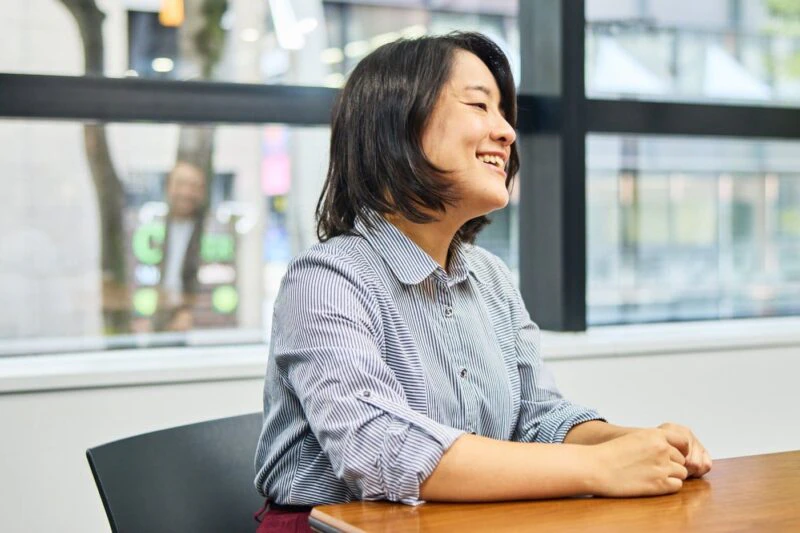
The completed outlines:
[[[382,46],[351,74],[334,112],[331,154],[340,157],[331,160],[319,203],[322,239],[350,231],[356,208],[416,223],[449,208],[463,218],[457,237],[472,242],[484,215],[505,207],[519,168],[511,69],[488,39],[454,35]],[[479,156],[504,160],[506,200],[454,209],[487,186],[473,175],[485,171]]]

